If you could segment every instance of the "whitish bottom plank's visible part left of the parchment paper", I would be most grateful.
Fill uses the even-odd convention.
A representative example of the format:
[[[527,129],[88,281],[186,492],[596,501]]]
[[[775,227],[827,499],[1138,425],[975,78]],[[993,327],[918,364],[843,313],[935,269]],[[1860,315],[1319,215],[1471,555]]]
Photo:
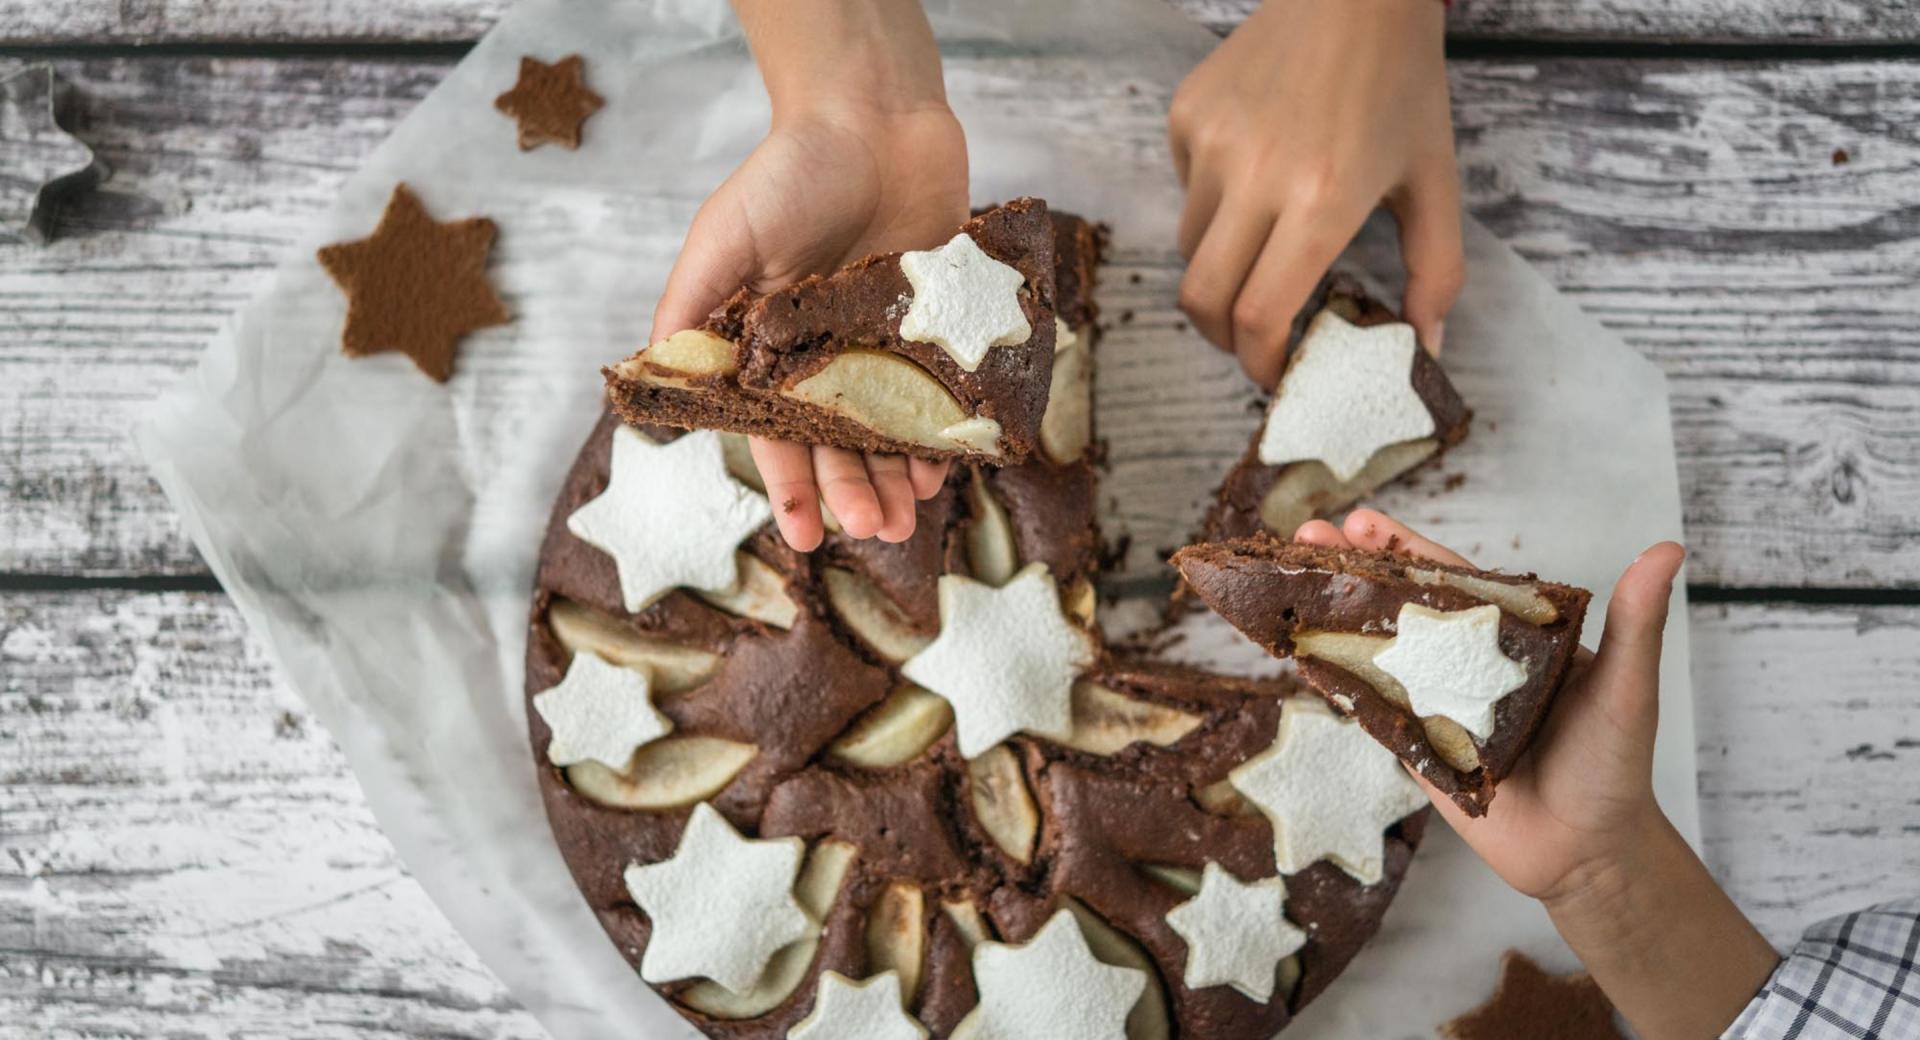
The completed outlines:
[[[543,1036],[225,597],[0,597],[0,1036]]]

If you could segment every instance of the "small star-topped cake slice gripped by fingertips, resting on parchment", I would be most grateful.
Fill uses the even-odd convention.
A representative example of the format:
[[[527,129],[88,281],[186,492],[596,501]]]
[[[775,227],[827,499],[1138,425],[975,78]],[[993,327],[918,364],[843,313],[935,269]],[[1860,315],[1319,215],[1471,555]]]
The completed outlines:
[[[1467,436],[1473,413],[1413,326],[1348,274],[1329,274],[1294,319],[1267,420],[1208,512],[1208,539],[1292,537]]]

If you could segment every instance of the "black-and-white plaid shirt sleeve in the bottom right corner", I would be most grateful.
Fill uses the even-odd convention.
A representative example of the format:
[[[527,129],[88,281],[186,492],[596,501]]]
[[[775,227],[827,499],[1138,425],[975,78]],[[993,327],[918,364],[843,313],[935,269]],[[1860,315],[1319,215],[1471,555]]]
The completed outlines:
[[[1820,921],[1720,1040],[1920,1036],[1920,898]]]

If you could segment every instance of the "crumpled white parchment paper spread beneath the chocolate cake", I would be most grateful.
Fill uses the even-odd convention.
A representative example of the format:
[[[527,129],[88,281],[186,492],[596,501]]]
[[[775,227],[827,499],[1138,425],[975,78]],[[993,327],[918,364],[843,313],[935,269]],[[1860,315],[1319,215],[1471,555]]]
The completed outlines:
[[[1212,35],[1154,0],[952,0],[933,13],[973,198],[1037,194],[1112,221],[1108,313],[1165,313],[1179,271],[1165,104]],[[607,107],[578,154],[520,154],[493,96],[522,54],[574,52]],[[524,0],[138,428],[200,551],[346,750],[409,869],[566,1040],[693,1032],[603,938],[547,835],[520,689],[534,553],[599,411],[597,366],[645,336],[693,209],[764,127],[722,4]],[[440,219],[501,228],[492,278],[515,322],[470,336],[447,386],[397,355],[344,359],[344,301],[313,261],[317,246],[365,236],[396,180]],[[1478,226],[1469,251],[1446,355],[1482,416],[1448,462],[1467,484],[1382,505],[1480,562],[1603,601],[1634,553],[1680,535],[1665,382]],[[1354,251],[1388,292],[1392,255],[1379,226]],[[1173,322],[1116,324],[1098,388],[1114,462],[1104,524],[1133,535],[1117,576],[1129,585],[1165,574],[1158,551],[1185,541],[1258,414],[1231,359]],[[1181,652],[1271,668],[1217,624]],[[1692,835],[1684,624],[1663,679],[1659,791]],[[1428,1036],[1486,994],[1500,950],[1571,963],[1528,900],[1446,827],[1430,833],[1380,938],[1288,1036]]]

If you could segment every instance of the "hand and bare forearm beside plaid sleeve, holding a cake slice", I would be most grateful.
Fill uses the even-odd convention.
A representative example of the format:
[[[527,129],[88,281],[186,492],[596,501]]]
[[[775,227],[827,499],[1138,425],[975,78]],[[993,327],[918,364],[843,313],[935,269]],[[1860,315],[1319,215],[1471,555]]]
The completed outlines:
[[[1465,564],[1367,508],[1340,528],[1311,520],[1294,537]],[[1684,556],[1663,541],[1626,568],[1599,652],[1580,652],[1546,729],[1484,817],[1469,819],[1428,787],[1448,823],[1546,906],[1613,1004],[1653,1040],[1718,1036],[1778,961],[1653,798],[1661,637]]]

